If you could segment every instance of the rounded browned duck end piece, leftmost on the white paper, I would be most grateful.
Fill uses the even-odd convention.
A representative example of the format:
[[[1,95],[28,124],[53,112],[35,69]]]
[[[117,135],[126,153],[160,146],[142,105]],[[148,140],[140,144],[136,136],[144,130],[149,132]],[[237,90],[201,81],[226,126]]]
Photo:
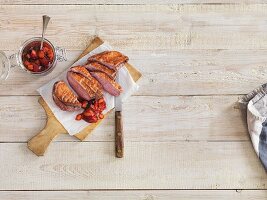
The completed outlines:
[[[69,89],[64,81],[58,81],[53,87],[53,100],[64,111],[75,111],[81,108],[77,96]]]

